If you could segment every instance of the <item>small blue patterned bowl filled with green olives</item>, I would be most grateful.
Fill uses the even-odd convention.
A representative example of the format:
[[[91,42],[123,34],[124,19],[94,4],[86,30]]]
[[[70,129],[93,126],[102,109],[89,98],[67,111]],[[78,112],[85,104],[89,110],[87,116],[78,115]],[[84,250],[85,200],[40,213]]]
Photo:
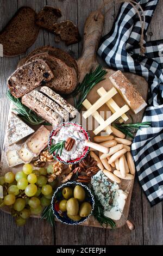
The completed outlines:
[[[53,214],[60,222],[78,225],[92,215],[95,200],[87,186],[72,181],[57,188],[51,204]]]

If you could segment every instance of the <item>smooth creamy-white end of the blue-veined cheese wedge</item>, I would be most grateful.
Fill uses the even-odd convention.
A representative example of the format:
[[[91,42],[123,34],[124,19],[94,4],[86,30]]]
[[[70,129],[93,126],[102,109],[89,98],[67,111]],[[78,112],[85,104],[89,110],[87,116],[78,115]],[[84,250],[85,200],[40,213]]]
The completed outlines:
[[[123,190],[116,190],[114,200],[112,202],[112,207],[109,211],[104,211],[104,215],[115,221],[120,220],[122,216],[121,212],[123,212],[127,196],[127,193]]]

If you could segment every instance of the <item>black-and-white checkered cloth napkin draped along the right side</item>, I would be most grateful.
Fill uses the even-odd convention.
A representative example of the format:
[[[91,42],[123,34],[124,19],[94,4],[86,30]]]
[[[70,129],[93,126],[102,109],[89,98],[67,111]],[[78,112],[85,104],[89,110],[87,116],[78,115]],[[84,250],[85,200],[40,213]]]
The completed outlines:
[[[136,2],[145,14],[146,35],[158,0]],[[142,121],[151,121],[152,126],[137,131],[132,154],[140,184],[153,206],[163,198],[163,40],[145,42],[146,52],[141,56],[140,36],[139,17],[126,2],[121,5],[110,33],[102,38],[98,54],[110,68],[134,72],[148,81],[148,107]]]

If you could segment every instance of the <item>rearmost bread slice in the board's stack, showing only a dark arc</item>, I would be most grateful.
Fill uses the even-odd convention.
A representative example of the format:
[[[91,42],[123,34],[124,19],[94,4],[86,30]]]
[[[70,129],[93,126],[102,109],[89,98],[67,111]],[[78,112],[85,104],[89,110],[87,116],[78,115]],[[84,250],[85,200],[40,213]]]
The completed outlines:
[[[76,60],[72,58],[71,55],[68,54],[67,52],[61,50],[60,48],[54,48],[50,45],[36,48],[34,51],[30,52],[26,57],[26,59],[24,60],[24,63],[25,62],[27,63],[30,57],[34,56],[35,54],[39,54],[43,52],[49,52],[50,55],[62,60],[62,62],[65,62],[67,66],[74,68],[76,70],[77,77],[78,77],[78,65]]]

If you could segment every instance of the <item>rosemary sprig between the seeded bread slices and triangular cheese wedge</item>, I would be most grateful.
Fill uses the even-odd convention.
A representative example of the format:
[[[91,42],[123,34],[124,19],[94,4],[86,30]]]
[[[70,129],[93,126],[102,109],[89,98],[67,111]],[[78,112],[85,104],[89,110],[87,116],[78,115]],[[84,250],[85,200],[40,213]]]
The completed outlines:
[[[34,111],[24,106],[20,99],[17,99],[16,97],[12,96],[12,94],[10,93],[10,90],[7,91],[6,95],[9,98],[9,100],[12,101],[16,106],[16,108],[14,108],[13,110],[15,110],[18,113],[18,116],[22,120],[26,121],[31,125],[41,125],[41,124],[51,125],[45,120],[43,120],[41,117],[36,115]]]

